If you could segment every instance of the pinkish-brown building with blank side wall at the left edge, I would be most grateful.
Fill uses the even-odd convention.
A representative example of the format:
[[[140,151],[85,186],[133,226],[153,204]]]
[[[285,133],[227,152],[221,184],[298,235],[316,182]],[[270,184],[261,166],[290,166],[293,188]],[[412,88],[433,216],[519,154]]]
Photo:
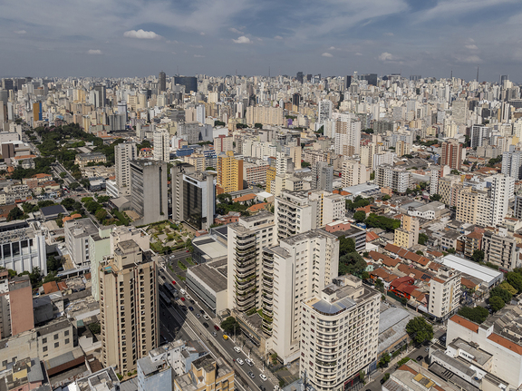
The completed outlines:
[[[0,339],[34,328],[33,288],[29,276],[8,278],[9,271],[0,270]]]

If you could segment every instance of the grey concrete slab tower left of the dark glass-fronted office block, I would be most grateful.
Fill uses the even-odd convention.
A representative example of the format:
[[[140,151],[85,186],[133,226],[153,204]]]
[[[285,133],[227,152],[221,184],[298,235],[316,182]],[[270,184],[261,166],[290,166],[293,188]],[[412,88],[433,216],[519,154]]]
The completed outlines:
[[[131,161],[131,209],[140,216],[135,225],[169,219],[167,163]]]

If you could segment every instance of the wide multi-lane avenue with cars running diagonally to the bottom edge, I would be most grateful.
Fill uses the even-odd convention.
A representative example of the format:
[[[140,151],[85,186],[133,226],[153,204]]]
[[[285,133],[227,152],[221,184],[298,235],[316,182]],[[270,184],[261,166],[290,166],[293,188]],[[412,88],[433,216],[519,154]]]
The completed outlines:
[[[176,253],[175,259],[183,259],[189,255],[187,253]],[[169,284],[172,284],[172,281],[175,281],[174,288],[179,290],[179,299],[175,300],[176,304],[173,307],[160,308],[160,331],[161,335],[166,337],[167,335],[174,339],[179,337],[184,337],[186,339],[200,339],[206,347],[210,351],[212,351],[215,355],[224,357],[227,363],[233,367],[236,375],[239,375],[242,385],[247,386],[252,390],[262,389],[264,387],[266,391],[271,391],[274,389],[274,384],[270,381],[270,376],[268,374],[269,370],[264,366],[263,363],[258,363],[254,360],[254,366],[249,367],[247,365],[246,359],[249,357],[248,354],[240,350],[237,353],[234,350],[234,347],[241,348],[236,345],[234,341],[234,337],[228,337],[225,339],[223,330],[219,327],[219,330],[216,330],[214,326],[219,326],[216,322],[214,322],[213,318],[210,318],[208,314],[212,314],[210,308],[205,306],[203,303],[198,300],[195,294],[190,294],[193,292],[187,291],[186,284],[176,279],[176,276],[172,276],[172,272],[165,266],[160,266],[160,282],[163,281]],[[163,281],[162,281],[163,280]],[[180,289],[184,289],[187,293],[181,294]],[[189,294],[189,297],[187,297]],[[181,298],[185,298],[185,301],[182,301]],[[190,300],[193,300],[192,303]],[[181,309],[181,306],[186,306],[187,310],[184,311]],[[189,310],[189,307],[194,308],[192,311]],[[198,318],[199,315],[200,317]],[[204,318],[204,317],[208,317]],[[208,327],[204,326],[204,323],[208,324]],[[166,333],[166,334],[164,334]],[[212,333],[215,333],[214,336]],[[169,339],[169,338],[168,338]],[[237,358],[241,358],[243,361],[243,365],[237,364]],[[254,378],[251,378],[248,373],[253,373]],[[264,381],[261,378],[261,374],[265,374],[268,379]]]

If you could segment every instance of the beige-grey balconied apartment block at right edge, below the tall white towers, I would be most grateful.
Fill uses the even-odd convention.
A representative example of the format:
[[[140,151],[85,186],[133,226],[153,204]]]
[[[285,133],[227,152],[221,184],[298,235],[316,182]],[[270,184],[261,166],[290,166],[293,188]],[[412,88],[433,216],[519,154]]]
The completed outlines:
[[[484,262],[497,265],[499,270],[504,272],[520,267],[517,239],[508,236],[507,229],[486,230],[481,244],[484,251]]]

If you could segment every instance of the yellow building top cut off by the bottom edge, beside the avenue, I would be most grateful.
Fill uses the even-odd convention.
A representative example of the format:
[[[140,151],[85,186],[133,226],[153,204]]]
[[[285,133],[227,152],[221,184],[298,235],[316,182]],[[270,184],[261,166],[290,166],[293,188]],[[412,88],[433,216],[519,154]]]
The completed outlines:
[[[192,362],[190,371],[174,378],[174,391],[232,391],[234,371],[221,357],[210,355]]]

